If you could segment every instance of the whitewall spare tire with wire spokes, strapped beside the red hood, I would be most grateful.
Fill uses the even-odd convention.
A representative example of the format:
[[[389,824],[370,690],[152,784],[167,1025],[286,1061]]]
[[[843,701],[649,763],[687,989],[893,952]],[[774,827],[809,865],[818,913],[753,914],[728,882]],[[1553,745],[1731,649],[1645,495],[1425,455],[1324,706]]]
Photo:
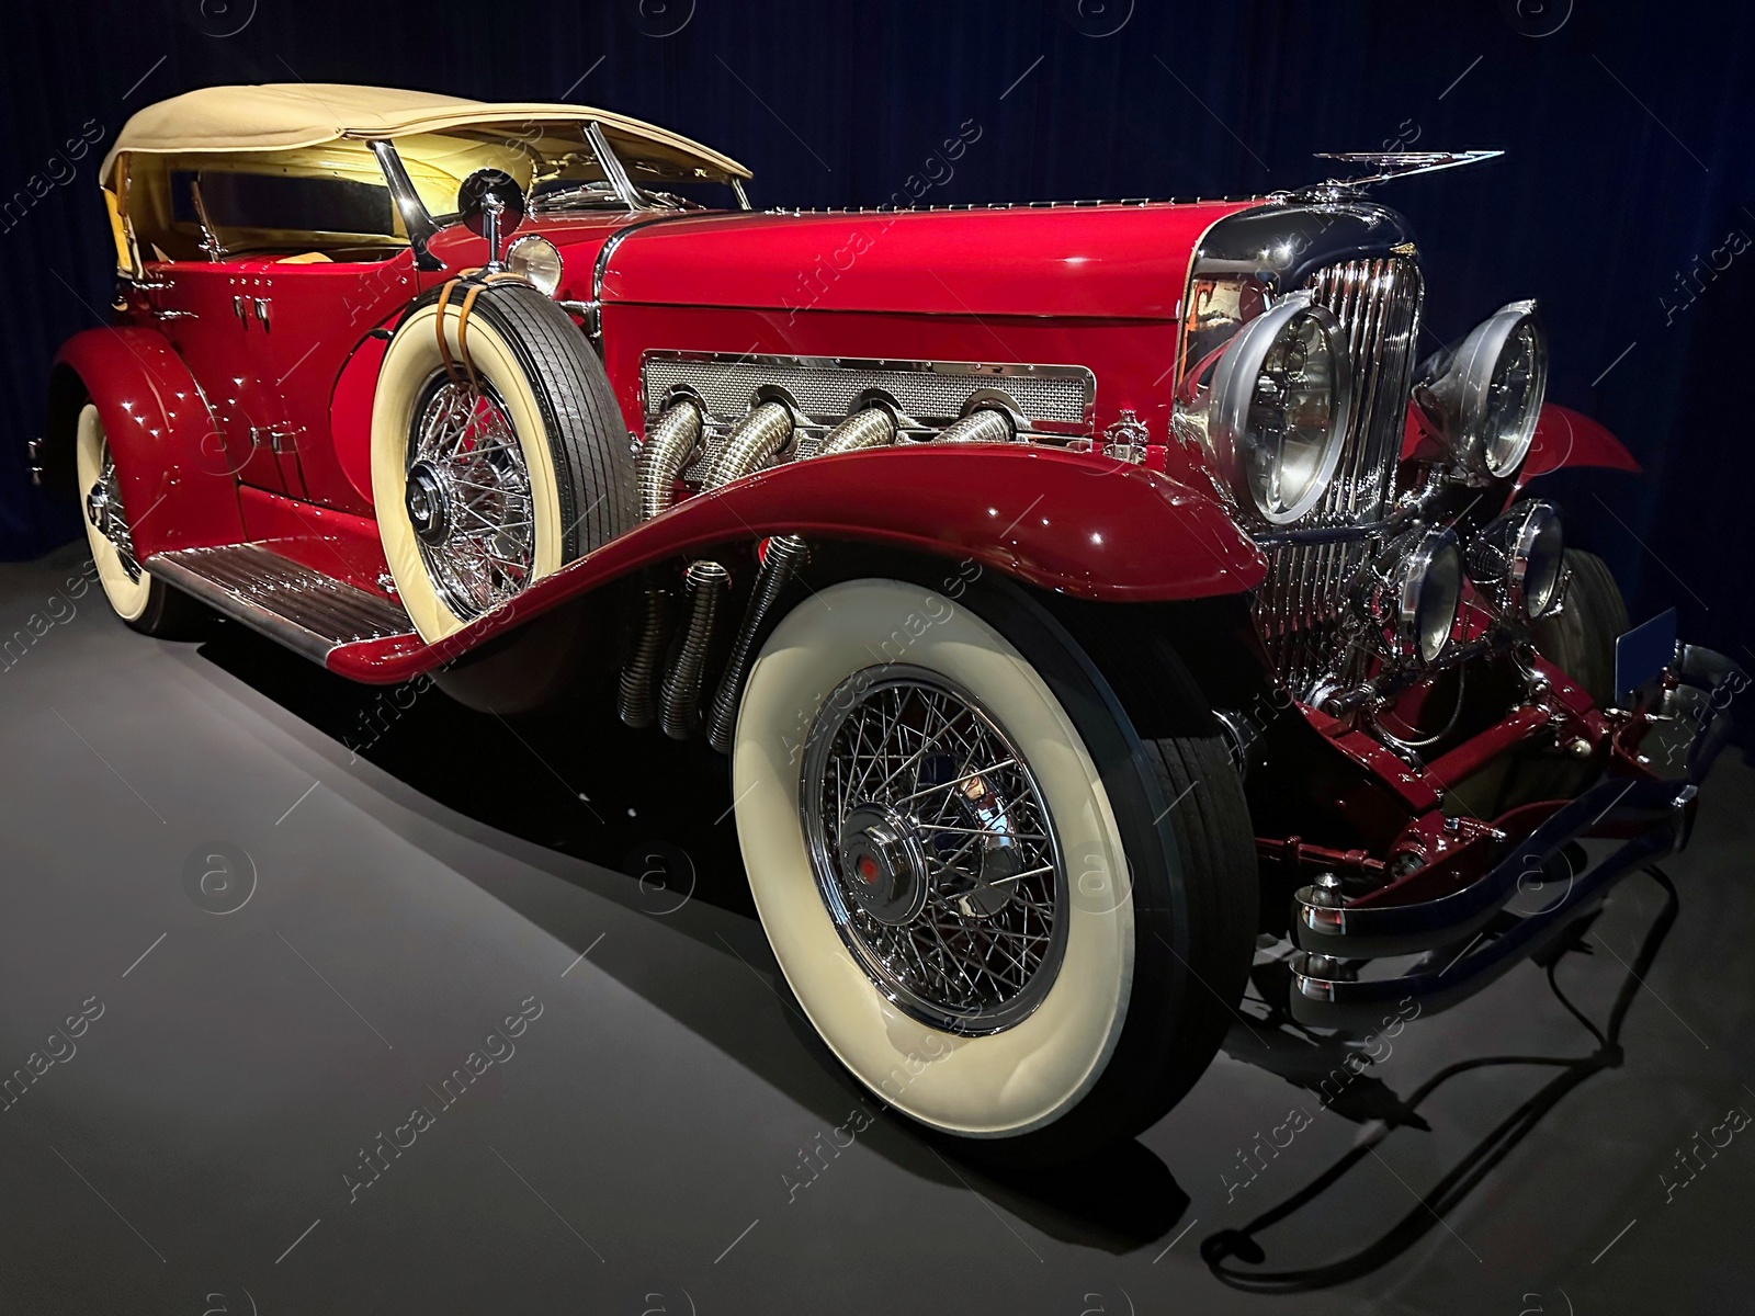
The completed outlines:
[[[428,642],[637,519],[628,430],[579,326],[521,279],[448,288],[404,314],[372,404],[379,537]]]

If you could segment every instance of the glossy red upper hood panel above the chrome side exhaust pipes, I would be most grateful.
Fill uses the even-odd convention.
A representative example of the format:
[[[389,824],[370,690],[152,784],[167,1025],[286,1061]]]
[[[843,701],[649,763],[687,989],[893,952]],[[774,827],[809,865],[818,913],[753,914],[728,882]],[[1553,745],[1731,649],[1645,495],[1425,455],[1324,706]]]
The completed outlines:
[[[600,232],[577,233],[567,263],[590,254],[605,304],[1174,319],[1202,233],[1257,204],[667,216],[604,260]]]

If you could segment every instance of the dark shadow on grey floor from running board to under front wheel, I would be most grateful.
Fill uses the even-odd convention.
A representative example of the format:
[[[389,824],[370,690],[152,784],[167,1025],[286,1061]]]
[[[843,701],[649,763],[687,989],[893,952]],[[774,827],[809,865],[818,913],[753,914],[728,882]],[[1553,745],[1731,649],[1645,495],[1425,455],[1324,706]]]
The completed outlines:
[[[340,742],[349,760],[372,763],[439,805],[430,814],[435,821],[446,812],[462,814],[493,832],[620,872],[628,881],[616,890],[576,877],[577,865],[548,869],[630,911],[663,914],[700,902],[732,916],[737,926],[730,939],[721,932],[725,918],[713,919],[714,932],[688,916],[649,923],[665,935],[700,941],[716,955],[732,949],[786,993],[744,879],[728,765],[704,744],[679,746],[658,728],[623,726],[605,691],[563,697],[541,714],[500,718],[465,709],[425,683],[360,686],[230,623],[218,623],[197,653]],[[491,844],[491,833],[483,839]],[[576,933],[541,895],[488,890],[553,935],[569,941]],[[609,972],[621,967],[605,951],[593,963]],[[790,993],[783,1018],[799,1048],[777,1055],[772,1035],[762,1051],[751,1046],[760,1042],[755,1033],[730,1035],[723,1016],[688,983],[632,974],[623,981],[823,1118],[839,1119],[849,1104],[870,1102]],[[1188,1207],[1171,1169],[1141,1142],[1071,1167],[1018,1169],[969,1155],[965,1146],[930,1137],[900,1118],[878,1121],[860,1141],[923,1179],[974,1188],[1049,1237],[1116,1255],[1164,1237]]]

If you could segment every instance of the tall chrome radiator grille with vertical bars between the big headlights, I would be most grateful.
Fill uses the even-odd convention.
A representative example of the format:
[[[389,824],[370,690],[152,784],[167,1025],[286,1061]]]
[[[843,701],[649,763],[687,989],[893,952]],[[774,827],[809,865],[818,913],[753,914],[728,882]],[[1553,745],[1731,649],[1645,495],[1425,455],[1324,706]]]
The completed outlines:
[[[1400,456],[1420,332],[1420,267],[1406,258],[1353,260],[1318,270],[1307,286],[1346,330],[1357,391],[1334,484],[1300,528],[1372,525]],[[1267,553],[1255,619],[1274,672],[1297,695],[1350,667],[1341,595],[1365,551],[1364,540],[1348,540],[1281,544]]]

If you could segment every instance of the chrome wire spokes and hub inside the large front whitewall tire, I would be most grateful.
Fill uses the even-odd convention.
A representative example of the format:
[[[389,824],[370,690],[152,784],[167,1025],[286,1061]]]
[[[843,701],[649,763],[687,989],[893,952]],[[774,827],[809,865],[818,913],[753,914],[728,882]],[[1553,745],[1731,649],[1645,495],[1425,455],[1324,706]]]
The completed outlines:
[[[963,1035],[1028,1018],[1065,949],[1067,874],[1028,763],[948,677],[848,677],[806,740],[800,809],[823,904],[899,1009]]]

